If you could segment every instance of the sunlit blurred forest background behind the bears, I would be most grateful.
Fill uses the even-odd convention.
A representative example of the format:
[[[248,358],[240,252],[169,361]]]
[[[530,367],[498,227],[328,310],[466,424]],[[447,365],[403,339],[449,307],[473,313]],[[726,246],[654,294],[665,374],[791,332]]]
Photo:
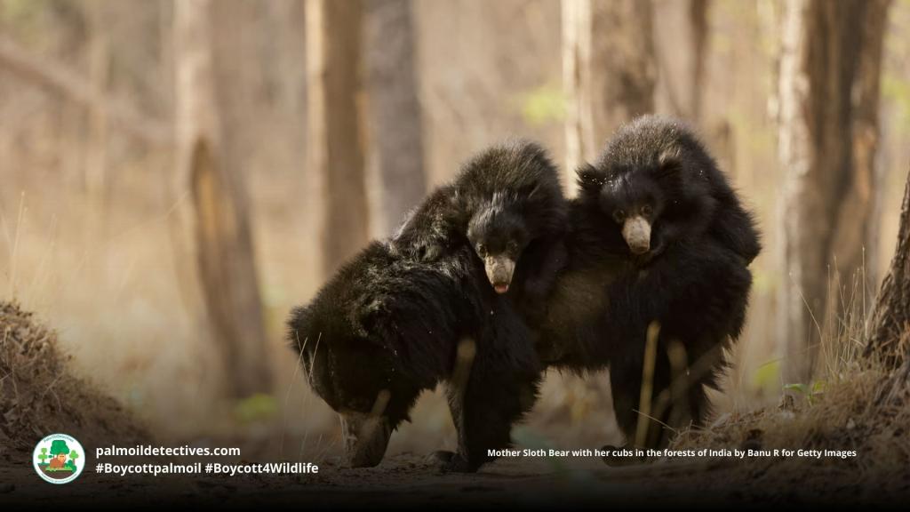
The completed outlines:
[[[474,152],[540,140],[571,193],[574,165],[624,120],[657,112],[700,131],[763,230],[717,412],[775,404],[799,378],[785,368],[788,343],[812,337],[782,327],[785,289],[800,275],[787,257],[788,212],[801,199],[786,137],[801,106],[788,94],[815,84],[787,65],[787,31],[802,29],[791,4],[0,0],[0,299],[56,328],[77,371],[161,435],[330,453],[338,422],[288,349],[290,308]],[[832,212],[791,231],[834,230],[859,193],[859,264],[841,269],[831,250],[806,267],[839,297],[833,327],[818,330],[846,352],[894,252],[910,165],[910,1],[869,5],[885,11],[871,34],[881,51],[864,33],[851,94],[829,96],[837,119],[854,123],[846,133],[860,135],[839,143],[852,153],[834,151],[850,160],[844,180],[818,191]],[[828,45],[828,57],[844,60],[851,41]],[[631,93],[598,97],[610,80]],[[844,114],[863,90],[871,103]],[[809,124],[812,139],[822,128]],[[197,135],[207,145],[187,143]],[[218,238],[222,222],[235,238]],[[242,295],[239,314],[205,304],[219,293]],[[824,323],[804,299],[807,322]],[[860,320],[844,327],[846,310]],[[618,442],[607,382],[548,374],[525,432],[566,447]],[[454,445],[439,391],[413,420],[390,451]]]

